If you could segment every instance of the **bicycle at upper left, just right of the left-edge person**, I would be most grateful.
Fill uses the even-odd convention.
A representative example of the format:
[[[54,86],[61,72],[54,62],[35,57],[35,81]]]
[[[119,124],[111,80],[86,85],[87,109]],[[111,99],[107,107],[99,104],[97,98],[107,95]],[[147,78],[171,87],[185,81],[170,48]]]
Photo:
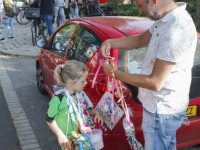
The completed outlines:
[[[26,19],[26,16],[25,16],[26,7],[27,7],[26,3],[23,3],[22,6],[18,7],[19,14],[15,16],[15,19],[20,25],[27,25],[30,22],[30,20]]]

